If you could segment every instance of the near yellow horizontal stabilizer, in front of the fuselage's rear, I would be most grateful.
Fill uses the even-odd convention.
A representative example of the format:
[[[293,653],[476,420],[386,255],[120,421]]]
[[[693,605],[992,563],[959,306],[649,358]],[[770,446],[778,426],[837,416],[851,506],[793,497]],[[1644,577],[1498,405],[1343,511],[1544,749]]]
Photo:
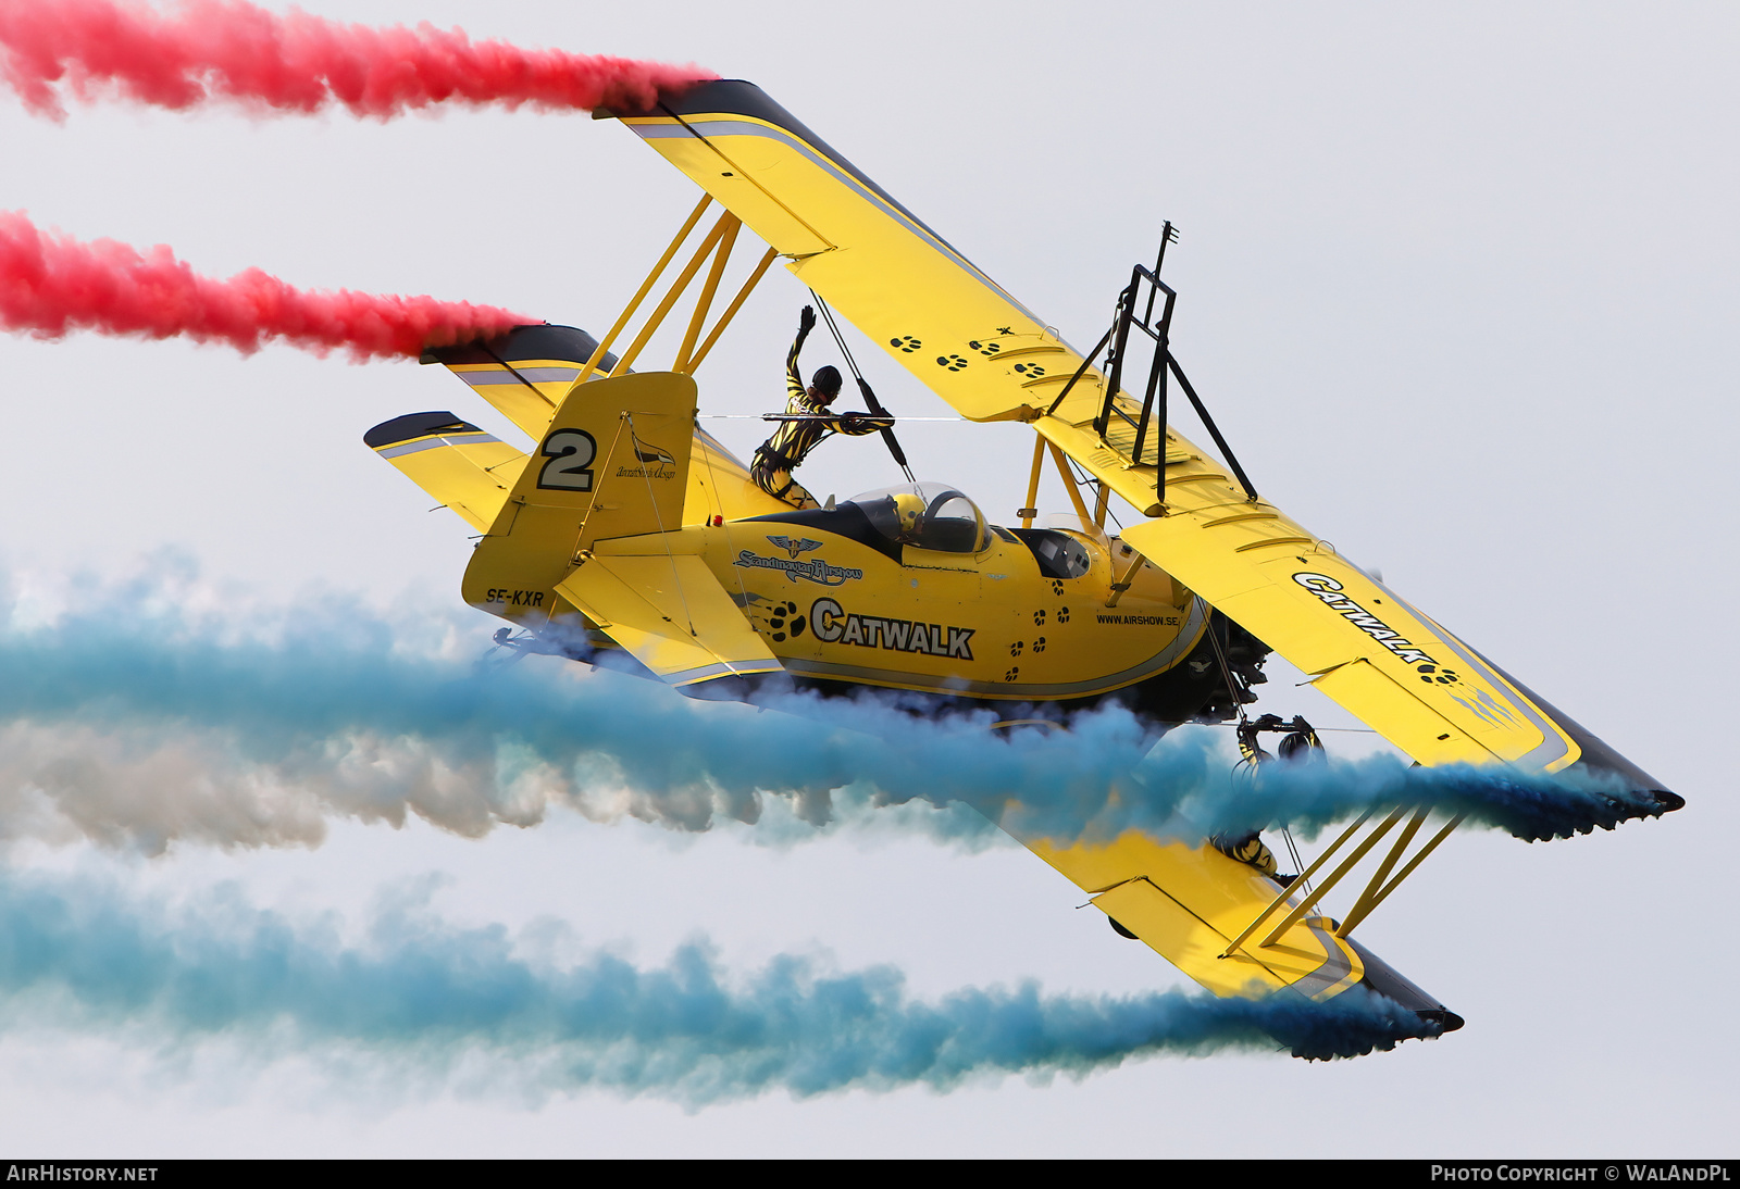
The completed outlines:
[[[593,556],[557,591],[670,685],[783,671],[696,555]]]

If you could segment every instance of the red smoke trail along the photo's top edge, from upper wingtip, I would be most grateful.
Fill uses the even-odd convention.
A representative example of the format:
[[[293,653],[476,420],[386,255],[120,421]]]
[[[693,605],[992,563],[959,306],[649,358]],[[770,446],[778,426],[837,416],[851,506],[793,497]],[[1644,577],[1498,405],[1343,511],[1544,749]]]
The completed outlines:
[[[254,110],[336,103],[381,120],[437,103],[592,110],[652,104],[658,90],[717,78],[696,66],[524,50],[461,30],[372,28],[240,0],[186,0],[165,16],[115,0],[0,0],[5,82],[40,115],[64,90],[106,85],[160,108],[228,99]]]

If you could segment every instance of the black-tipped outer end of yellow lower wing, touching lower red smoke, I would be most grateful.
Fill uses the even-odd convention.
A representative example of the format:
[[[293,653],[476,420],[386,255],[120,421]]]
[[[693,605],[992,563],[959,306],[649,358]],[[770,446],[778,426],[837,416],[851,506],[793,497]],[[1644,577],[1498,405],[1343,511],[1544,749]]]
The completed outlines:
[[[447,370],[525,431],[541,438],[550,417],[574,386],[599,341],[576,327],[515,327],[503,335],[465,346],[425,351],[425,363]],[[616,356],[599,360],[593,375],[609,375]]]

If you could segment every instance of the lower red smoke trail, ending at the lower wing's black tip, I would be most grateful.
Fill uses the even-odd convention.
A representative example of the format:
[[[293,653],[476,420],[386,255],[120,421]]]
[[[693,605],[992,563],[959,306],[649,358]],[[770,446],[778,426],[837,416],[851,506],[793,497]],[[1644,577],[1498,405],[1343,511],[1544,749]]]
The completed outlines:
[[[38,339],[70,330],[228,342],[258,351],[270,339],[355,358],[418,355],[534,322],[496,306],[433,297],[301,290],[251,268],[200,276],[158,245],[82,243],[0,212],[0,327]]]

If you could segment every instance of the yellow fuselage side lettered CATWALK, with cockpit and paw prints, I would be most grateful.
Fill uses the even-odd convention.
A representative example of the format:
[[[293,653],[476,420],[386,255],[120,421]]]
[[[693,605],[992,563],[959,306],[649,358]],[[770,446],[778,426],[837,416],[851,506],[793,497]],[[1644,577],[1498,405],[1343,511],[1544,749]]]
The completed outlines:
[[[1152,567],[1114,600],[1129,553],[1091,523],[988,525],[981,548],[945,551],[889,541],[844,502],[712,532],[708,567],[802,681],[1023,704],[1176,685],[1143,701],[1188,713],[1221,685],[1185,664],[1204,643],[1201,600]]]

